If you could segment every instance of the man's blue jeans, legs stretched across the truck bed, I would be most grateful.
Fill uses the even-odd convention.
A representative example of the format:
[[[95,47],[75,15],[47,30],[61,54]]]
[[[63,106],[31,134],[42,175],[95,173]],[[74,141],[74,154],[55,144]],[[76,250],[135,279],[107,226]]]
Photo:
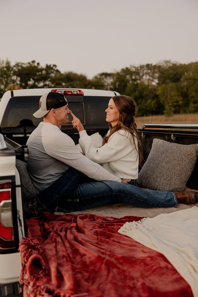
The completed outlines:
[[[53,213],[80,211],[106,203],[124,203],[136,207],[177,207],[175,193],[145,190],[117,181],[94,181],[70,167],[51,186],[37,195],[43,208]]]

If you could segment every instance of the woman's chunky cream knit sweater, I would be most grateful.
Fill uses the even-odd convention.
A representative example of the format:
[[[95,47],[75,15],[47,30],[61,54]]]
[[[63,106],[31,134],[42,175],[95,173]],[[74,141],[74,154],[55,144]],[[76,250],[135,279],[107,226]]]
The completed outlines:
[[[119,130],[111,135],[108,143],[95,148],[91,136],[87,135],[85,130],[79,134],[81,149],[90,160],[102,164],[103,168],[117,177],[131,179],[138,177],[139,156],[135,149],[135,145],[138,147],[136,137],[134,145],[132,135],[125,130]]]

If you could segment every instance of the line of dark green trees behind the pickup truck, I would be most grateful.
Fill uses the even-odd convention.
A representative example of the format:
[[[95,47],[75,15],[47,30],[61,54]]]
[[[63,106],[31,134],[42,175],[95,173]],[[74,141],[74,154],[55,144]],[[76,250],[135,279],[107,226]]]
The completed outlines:
[[[137,116],[198,112],[198,62],[131,65],[88,79],[71,71],[61,73],[52,64],[43,67],[31,61],[11,65],[0,60],[0,98],[7,90],[54,87],[117,91],[135,100]]]

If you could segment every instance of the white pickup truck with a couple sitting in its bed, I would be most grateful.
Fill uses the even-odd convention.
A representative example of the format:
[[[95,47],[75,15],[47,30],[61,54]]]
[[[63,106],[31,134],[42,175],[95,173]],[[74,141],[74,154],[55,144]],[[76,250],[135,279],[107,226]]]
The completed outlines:
[[[64,94],[70,109],[81,120],[87,133],[91,135],[100,132],[102,136],[108,131],[104,110],[109,99],[119,94],[89,89],[24,89],[7,91],[0,99],[0,296],[22,296],[18,283],[21,271],[18,244],[26,236],[27,203],[36,195],[26,169],[26,141],[43,120],[34,118],[33,113],[38,109],[40,97],[48,91]],[[62,126],[62,131],[77,144],[79,136],[71,120],[68,125]],[[198,142],[198,125],[195,124],[185,127],[145,124],[138,131],[144,160],[148,157],[154,138],[180,144]],[[187,187],[198,189],[197,178],[198,161]]]

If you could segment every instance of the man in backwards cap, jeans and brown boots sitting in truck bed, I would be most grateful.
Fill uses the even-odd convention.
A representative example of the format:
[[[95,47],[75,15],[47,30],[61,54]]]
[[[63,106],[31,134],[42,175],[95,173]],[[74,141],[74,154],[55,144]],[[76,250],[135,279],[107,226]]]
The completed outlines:
[[[43,122],[32,132],[28,170],[38,192],[37,201],[53,213],[57,206],[77,211],[105,203],[138,207],[176,207],[177,203],[198,201],[198,191],[161,192],[127,184],[81,154],[73,140],[61,132],[68,124],[70,110],[62,94],[49,92],[40,98],[34,113]]]

